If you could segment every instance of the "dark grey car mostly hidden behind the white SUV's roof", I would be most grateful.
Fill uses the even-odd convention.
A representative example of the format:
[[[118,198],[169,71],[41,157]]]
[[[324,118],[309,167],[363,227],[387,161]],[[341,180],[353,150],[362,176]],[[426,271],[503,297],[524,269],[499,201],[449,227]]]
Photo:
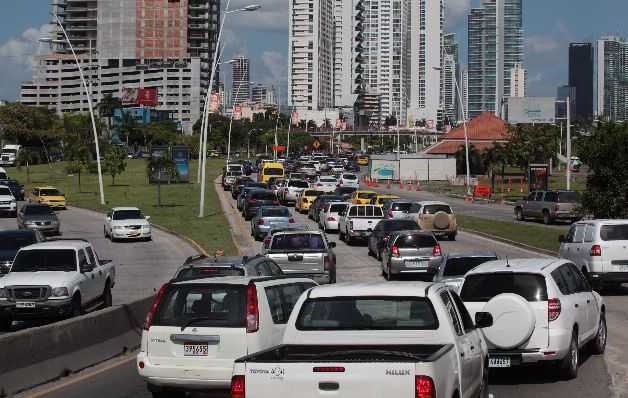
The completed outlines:
[[[254,256],[208,257],[204,254],[188,257],[174,273],[173,279],[217,278],[221,276],[282,276],[281,268],[268,257]]]

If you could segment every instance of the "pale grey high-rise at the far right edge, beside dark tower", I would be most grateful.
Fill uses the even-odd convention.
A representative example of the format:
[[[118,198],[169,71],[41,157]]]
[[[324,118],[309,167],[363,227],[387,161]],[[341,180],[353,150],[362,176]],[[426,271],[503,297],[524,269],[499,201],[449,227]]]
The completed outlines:
[[[628,120],[628,39],[603,36],[597,42],[597,112]]]

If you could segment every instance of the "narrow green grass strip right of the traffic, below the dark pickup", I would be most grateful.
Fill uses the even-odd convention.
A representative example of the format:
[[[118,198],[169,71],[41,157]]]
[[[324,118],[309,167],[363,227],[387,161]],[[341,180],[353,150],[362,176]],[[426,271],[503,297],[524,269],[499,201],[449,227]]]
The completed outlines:
[[[539,249],[558,253],[560,243],[558,236],[565,233],[554,228],[545,228],[525,223],[512,223],[507,221],[489,220],[458,214],[456,216],[458,226],[471,231],[483,232],[499,238],[523,243]]]

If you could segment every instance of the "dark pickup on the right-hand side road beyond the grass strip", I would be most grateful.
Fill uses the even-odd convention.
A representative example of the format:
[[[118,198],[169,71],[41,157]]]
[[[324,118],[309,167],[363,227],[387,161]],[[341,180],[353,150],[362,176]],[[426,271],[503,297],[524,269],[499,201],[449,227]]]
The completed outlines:
[[[576,191],[532,191],[515,203],[515,216],[519,221],[526,218],[540,218],[545,224],[557,220],[578,221],[581,216],[574,208],[582,202],[582,196]]]

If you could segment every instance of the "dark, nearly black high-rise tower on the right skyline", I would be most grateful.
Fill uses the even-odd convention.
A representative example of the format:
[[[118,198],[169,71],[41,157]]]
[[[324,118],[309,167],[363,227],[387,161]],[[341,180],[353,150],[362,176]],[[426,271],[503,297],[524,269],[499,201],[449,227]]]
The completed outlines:
[[[571,111],[574,116],[593,116],[593,45],[569,45],[569,86],[576,89],[578,101]]]

